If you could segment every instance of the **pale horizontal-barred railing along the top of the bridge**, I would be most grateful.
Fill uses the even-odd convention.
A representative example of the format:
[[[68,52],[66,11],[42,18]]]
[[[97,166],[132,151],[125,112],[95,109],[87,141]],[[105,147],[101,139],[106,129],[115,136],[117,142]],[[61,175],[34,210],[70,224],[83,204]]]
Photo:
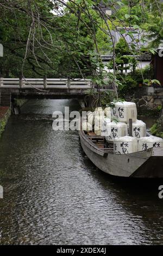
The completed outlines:
[[[3,88],[65,88],[88,89],[91,80],[66,78],[3,78],[0,77],[0,87]]]

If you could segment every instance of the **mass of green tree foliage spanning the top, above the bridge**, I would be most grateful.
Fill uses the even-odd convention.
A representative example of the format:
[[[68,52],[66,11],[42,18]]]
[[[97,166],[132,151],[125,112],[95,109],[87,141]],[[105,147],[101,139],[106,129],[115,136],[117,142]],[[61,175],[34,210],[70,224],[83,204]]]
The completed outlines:
[[[118,30],[122,36],[128,34],[131,39],[145,29],[153,33],[155,40],[160,40],[162,7],[158,8],[158,3],[152,0],[104,0],[112,9],[111,17],[107,17],[99,3],[99,0],[2,0],[0,41],[5,51],[0,59],[0,75],[18,77],[23,66],[26,77],[91,76],[98,93],[100,87],[112,84],[123,95],[143,83],[141,72],[136,70],[134,40],[130,47],[123,38],[116,45],[116,58],[109,64],[112,69],[116,63],[114,74],[104,72],[100,54],[114,52],[111,29]],[[119,9],[115,11],[117,5]],[[127,27],[133,29],[127,31]],[[136,42],[147,42],[147,37]],[[155,53],[153,45],[141,50]],[[127,69],[132,72],[124,76],[123,70]],[[154,81],[152,76],[143,79]]]

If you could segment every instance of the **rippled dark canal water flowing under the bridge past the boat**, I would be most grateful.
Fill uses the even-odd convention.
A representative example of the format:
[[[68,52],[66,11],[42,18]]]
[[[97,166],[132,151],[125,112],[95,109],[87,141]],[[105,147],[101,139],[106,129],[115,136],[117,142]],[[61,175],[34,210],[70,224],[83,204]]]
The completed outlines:
[[[105,175],[77,131],[53,131],[52,113],[75,100],[30,100],[0,141],[3,245],[161,245],[160,181]]]

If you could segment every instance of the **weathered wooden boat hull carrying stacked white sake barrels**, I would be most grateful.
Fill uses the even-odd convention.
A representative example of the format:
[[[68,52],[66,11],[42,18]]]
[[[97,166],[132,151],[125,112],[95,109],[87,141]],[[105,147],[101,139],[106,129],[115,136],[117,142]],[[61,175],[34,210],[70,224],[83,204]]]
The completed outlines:
[[[163,178],[163,148],[150,148],[132,154],[114,154],[113,144],[104,147],[104,138],[79,131],[87,157],[103,172],[130,178]]]

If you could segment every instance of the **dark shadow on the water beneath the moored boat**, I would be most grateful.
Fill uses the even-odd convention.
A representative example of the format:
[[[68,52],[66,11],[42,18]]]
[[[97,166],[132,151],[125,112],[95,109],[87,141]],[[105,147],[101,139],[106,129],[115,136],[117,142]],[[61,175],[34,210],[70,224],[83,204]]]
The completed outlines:
[[[106,174],[85,156],[84,162],[87,166],[93,166],[91,175],[101,184],[108,193],[113,193],[118,204],[132,214],[145,217],[147,226],[152,222],[161,221],[163,227],[163,199],[159,198],[159,186],[163,186],[163,179],[134,179],[121,178]],[[163,193],[162,193],[163,195]],[[163,236],[162,236],[163,237]]]

